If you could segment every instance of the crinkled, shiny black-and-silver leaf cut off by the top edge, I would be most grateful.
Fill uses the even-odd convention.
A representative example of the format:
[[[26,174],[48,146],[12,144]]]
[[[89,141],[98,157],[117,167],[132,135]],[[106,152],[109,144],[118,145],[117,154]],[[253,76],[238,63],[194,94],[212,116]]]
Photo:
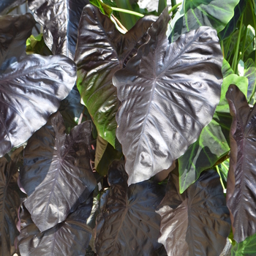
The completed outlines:
[[[53,54],[74,59],[78,23],[89,0],[29,0],[29,9],[44,28],[44,39]]]

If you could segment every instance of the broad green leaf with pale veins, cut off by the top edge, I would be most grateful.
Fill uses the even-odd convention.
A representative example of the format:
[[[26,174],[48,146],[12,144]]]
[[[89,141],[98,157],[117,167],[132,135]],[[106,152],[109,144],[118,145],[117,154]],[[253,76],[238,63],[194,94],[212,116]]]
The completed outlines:
[[[239,0],[184,0],[181,10],[170,23],[173,28],[172,41],[181,34],[200,26],[211,26],[217,32],[227,26],[233,18]]]

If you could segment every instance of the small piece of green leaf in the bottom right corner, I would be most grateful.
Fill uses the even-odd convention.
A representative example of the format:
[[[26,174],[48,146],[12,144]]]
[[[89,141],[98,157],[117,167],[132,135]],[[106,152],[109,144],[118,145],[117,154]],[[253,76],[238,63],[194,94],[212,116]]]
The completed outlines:
[[[232,256],[247,256],[247,255],[255,255],[256,248],[256,233],[252,236],[248,236],[241,243],[236,243],[231,250]]]

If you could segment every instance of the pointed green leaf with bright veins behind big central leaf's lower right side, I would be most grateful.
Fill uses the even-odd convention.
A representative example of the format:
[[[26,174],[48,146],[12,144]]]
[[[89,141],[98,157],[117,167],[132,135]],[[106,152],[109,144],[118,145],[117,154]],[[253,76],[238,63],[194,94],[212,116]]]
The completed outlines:
[[[179,188],[182,194],[197,181],[200,173],[212,166],[228,151],[229,126],[222,124],[222,117],[214,113],[214,118],[204,127],[199,139],[189,146],[186,153],[178,159]],[[229,118],[230,124],[232,118]]]

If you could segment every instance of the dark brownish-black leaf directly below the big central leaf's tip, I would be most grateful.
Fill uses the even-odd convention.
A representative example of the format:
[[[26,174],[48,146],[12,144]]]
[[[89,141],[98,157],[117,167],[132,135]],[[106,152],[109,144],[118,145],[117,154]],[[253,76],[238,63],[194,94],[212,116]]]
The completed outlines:
[[[151,181],[127,186],[124,162],[113,162],[108,172],[110,191],[101,201],[97,217],[97,255],[152,255],[159,248],[159,214],[162,187]]]

